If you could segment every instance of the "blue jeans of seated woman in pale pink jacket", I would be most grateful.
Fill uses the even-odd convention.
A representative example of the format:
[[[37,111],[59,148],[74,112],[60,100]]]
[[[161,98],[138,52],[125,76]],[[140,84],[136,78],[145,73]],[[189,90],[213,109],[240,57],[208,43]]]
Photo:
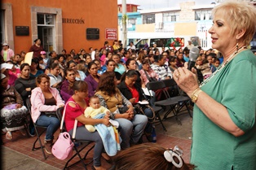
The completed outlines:
[[[39,126],[46,126],[46,141],[51,141],[53,134],[60,127],[60,120],[56,117],[47,117],[45,115],[39,116],[36,122]]]

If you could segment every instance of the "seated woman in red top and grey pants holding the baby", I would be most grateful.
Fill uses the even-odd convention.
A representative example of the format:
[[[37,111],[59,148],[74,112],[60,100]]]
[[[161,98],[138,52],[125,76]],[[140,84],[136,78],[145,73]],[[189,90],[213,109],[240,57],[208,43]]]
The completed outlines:
[[[86,110],[86,107],[89,106],[88,101],[85,100],[88,95],[87,84],[85,81],[75,81],[73,84],[73,91],[73,96],[69,98],[66,103],[66,115],[64,118],[66,129],[68,133],[72,135],[74,122],[75,120],[78,121],[76,139],[95,142],[93,155],[94,165],[92,166],[92,169],[105,170],[106,168],[101,167],[100,163],[100,158],[104,151],[102,139],[97,131],[90,133],[85,128],[85,124],[105,124],[106,126],[109,126],[109,119],[92,119],[84,116],[84,111]]]

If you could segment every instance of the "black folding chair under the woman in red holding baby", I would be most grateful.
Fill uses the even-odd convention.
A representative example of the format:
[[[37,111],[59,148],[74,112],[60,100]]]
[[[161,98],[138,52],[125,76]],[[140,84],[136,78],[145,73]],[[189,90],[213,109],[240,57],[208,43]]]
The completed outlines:
[[[62,120],[63,112],[64,112],[64,107],[60,107],[56,111],[57,118],[60,121]],[[63,125],[63,129],[60,129],[60,131],[61,132],[66,132],[65,125]],[[77,139],[75,139],[73,137],[72,137],[72,142],[74,143],[73,150],[75,150],[76,153],[70,159],[68,159],[67,163],[65,163],[64,169],[71,168],[71,167],[73,167],[73,165],[75,165],[77,163],[80,163],[80,162],[82,163],[82,166],[85,169],[87,169],[86,165],[92,163],[93,160],[90,160],[90,162],[88,162],[88,163],[85,163],[84,161],[86,160],[86,156],[89,154],[90,150],[92,150],[95,147],[95,145],[90,146],[89,150],[86,151],[86,154],[82,158],[80,152],[82,150],[84,150],[86,148],[86,146],[89,146],[92,142],[91,141],[86,141],[86,140],[77,140]],[[82,147],[79,148],[79,146],[77,146],[77,143],[83,144]],[[79,160],[77,162],[75,162],[75,163],[72,163],[72,164],[68,165],[68,163],[70,163],[70,161],[72,161],[76,156],[79,157]]]

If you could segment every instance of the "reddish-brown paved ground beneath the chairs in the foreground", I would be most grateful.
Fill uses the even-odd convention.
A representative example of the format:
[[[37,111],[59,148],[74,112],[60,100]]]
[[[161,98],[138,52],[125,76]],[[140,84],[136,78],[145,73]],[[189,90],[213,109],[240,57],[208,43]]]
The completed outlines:
[[[183,159],[185,162],[189,162],[190,159],[190,146],[192,136],[192,118],[188,115],[187,111],[183,112],[183,115],[179,116],[182,121],[182,125],[177,124],[174,117],[168,118],[164,121],[167,132],[165,132],[161,124],[156,125],[157,129],[157,144],[166,148],[174,147],[175,145],[183,148]],[[42,135],[43,136],[43,135]],[[32,150],[35,137],[24,137],[20,132],[13,133],[13,139],[8,141],[5,136],[2,135],[2,169],[63,169],[66,160],[56,159],[53,155],[47,155],[47,159],[43,159],[42,150]],[[43,138],[42,138],[43,139]],[[146,140],[145,140],[146,141]],[[92,158],[92,153],[87,156],[88,159]],[[105,160],[102,160],[102,164],[106,168],[110,168],[111,165]],[[87,166],[90,169],[91,163]],[[82,169],[81,163],[78,163],[70,169]]]

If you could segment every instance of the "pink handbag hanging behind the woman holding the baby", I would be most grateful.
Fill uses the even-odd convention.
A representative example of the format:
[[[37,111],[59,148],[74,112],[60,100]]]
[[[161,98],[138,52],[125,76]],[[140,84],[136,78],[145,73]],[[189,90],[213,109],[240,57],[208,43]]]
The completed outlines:
[[[73,142],[70,139],[69,133],[60,133],[58,140],[51,148],[51,153],[60,160],[64,160],[73,155]]]

